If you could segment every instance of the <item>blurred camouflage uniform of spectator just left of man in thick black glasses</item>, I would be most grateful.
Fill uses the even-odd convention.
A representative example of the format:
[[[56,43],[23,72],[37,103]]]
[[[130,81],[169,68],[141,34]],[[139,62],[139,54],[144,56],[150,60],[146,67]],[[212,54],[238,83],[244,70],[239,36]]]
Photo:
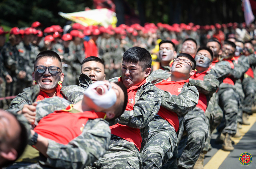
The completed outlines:
[[[25,45],[24,42],[20,42],[16,47],[19,51],[21,63],[27,74],[24,79],[20,79],[18,81],[20,85],[17,89],[17,92],[20,93],[24,88],[30,87],[32,85],[32,72],[34,71],[34,63],[40,51],[37,46],[33,46],[32,44]]]

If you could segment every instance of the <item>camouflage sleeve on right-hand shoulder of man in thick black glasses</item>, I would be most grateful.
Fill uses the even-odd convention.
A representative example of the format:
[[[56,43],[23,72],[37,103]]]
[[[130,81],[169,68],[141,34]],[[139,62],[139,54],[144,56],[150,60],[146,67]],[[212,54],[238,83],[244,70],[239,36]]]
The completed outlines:
[[[63,86],[61,92],[65,95],[66,99],[72,104],[75,104],[83,99],[83,92],[85,89],[77,85]]]

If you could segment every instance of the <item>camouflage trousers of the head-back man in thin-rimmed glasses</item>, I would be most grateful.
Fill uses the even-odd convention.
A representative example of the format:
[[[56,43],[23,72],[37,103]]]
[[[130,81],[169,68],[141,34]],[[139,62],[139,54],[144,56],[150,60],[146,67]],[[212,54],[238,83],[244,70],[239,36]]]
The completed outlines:
[[[149,136],[141,155],[145,169],[161,168],[170,159],[169,164],[177,161],[175,129],[159,115],[149,123]]]

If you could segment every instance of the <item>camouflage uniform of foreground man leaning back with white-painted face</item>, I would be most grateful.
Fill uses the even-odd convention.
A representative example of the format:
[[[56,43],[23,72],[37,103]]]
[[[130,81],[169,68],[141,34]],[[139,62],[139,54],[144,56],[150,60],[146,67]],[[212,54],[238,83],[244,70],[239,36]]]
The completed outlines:
[[[36,121],[50,114],[50,112],[52,113],[53,108],[63,109],[69,104],[71,102],[60,97],[47,98],[38,102]],[[48,158],[40,155],[38,163],[18,162],[9,166],[8,169],[83,169],[86,165],[92,165],[103,156],[108,148],[110,137],[111,132],[108,122],[99,118],[88,120],[82,134],[71,140],[67,145],[48,139],[46,152]]]

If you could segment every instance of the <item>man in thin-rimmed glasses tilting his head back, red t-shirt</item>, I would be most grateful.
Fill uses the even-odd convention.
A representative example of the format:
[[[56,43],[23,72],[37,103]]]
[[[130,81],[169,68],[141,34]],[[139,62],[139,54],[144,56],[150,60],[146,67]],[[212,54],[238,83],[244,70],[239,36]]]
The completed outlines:
[[[174,59],[172,74],[167,80],[155,84],[160,89],[161,107],[149,123],[149,137],[142,152],[143,168],[170,167],[177,162],[177,135],[179,124],[188,111],[198,103],[199,93],[188,78],[195,71],[195,60],[189,54],[178,54]],[[166,167],[168,167],[166,166]]]

